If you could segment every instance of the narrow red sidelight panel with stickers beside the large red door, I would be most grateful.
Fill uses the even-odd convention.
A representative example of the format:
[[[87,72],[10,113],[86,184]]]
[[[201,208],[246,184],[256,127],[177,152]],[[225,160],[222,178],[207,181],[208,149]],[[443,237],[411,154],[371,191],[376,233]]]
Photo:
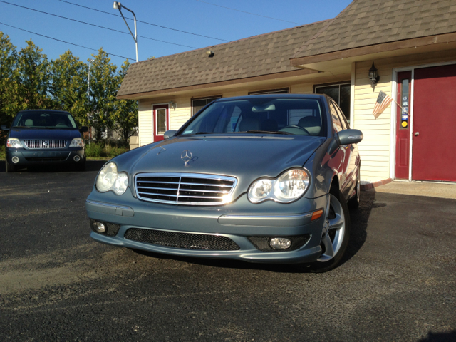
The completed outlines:
[[[412,72],[398,73],[398,92],[396,101],[396,178],[408,180],[410,170],[410,93]]]

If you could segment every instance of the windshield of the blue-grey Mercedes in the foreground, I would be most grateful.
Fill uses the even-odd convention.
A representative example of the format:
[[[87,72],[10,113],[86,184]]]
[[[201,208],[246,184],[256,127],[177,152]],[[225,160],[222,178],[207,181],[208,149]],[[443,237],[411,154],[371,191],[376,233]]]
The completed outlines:
[[[315,98],[249,98],[217,101],[197,115],[181,135],[270,133],[325,135],[326,120]]]

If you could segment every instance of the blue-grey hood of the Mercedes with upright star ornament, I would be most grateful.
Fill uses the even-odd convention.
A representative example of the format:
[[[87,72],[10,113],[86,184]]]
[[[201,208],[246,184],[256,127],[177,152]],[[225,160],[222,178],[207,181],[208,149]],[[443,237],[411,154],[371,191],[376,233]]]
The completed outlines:
[[[176,137],[153,144],[142,153],[138,150],[136,158],[129,155],[132,150],[114,161],[120,171],[131,175],[191,172],[234,176],[239,180],[238,187],[246,190],[259,177],[277,177],[291,167],[302,167],[324,140],[286,135]],[[186,150],[192,156],[187,165],[181,158]]]

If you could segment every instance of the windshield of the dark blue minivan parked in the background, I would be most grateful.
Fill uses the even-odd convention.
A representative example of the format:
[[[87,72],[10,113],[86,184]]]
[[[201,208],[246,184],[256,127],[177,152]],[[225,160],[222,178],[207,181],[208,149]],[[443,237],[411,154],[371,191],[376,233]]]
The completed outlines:
[[[70,113],[33,111],[19,112],[13,127],[20,128],[78,128]]]

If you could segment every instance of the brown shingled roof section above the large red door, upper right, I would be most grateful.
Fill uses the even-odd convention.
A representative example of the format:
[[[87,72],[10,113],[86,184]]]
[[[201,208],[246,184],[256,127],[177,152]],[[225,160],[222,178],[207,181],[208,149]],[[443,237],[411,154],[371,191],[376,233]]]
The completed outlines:
[[[452,32],[455,0],[354,0],[293,58]]]

